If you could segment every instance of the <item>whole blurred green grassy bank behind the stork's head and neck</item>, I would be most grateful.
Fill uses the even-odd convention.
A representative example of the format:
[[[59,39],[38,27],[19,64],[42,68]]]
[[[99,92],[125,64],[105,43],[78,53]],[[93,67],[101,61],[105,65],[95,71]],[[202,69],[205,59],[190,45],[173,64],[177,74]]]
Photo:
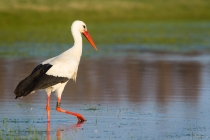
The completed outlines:
[[[209,0],[1,0],[0,51],[23,42],[72,44],[75,19],[99,45],[209,44]]]

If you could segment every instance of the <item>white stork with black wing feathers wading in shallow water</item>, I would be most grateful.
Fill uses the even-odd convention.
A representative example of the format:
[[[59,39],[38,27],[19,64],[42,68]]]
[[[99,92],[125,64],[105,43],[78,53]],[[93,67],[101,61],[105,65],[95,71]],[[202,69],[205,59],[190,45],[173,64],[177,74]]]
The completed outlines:
[[[61,95],[65,85],[70,79],[76,81],[77,70],[82,55],[82,36],[87,38],[95,50],[97,50],[91,36],[87,32],[87,26],[84,22],[76,20],[72,23],[71,32],[74,38],[74,46],[60,55],[50,58],[39,64],[32,73],[20,81],[14,93],[18,97],[26,96],[35,90],[45,89],[47,92],[47,121],[50,122],[50,95],[56,93],[56,110],[66,114],[74,115],[79,122],[85,121],[85,118],[74,112],[69,112],[61,108]]]

